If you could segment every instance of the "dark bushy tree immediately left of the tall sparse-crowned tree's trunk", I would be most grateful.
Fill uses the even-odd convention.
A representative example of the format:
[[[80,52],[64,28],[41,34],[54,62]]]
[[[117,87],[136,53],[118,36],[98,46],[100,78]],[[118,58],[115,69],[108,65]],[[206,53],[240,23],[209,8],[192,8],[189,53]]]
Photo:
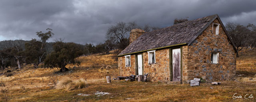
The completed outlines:
[[[26,64],[33,64],[34,68],[38,68],[44,54],[46,51],[44,48],[41,49],[42,42],[32,39],[29,42],[25,43],[25,56]]]

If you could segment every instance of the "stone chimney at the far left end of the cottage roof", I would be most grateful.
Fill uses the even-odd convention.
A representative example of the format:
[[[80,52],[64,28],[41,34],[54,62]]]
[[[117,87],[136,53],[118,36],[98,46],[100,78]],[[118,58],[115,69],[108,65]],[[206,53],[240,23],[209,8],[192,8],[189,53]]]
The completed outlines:
[[[130,44],[136,40],[139,36],[141,36],[142,34],[144,34],[145,31],[144,30],[141,30],[141,29],[133,29],[131,32],[130,32]]]

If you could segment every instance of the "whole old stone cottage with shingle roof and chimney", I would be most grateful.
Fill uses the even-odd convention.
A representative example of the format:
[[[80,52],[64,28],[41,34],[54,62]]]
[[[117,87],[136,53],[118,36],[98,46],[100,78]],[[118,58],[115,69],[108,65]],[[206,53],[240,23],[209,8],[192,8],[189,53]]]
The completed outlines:
[[[152,32],[134,29],[118,54],[118,70],[120,76],[149,73],[152,82],[232,80],[236,48],[217,14]]]

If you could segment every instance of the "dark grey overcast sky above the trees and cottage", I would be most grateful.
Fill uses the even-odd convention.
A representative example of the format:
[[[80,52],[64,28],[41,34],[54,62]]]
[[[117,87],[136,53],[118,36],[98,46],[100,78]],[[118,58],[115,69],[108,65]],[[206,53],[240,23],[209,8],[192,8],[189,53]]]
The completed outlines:
[[[36,32],[51,28],[49,41],[98,44],[116,22],[166,27],[175,18],[212,14],[224,24],[256,25],[255,5],[256,0],[1,0],[0,41],[38,39]]]

